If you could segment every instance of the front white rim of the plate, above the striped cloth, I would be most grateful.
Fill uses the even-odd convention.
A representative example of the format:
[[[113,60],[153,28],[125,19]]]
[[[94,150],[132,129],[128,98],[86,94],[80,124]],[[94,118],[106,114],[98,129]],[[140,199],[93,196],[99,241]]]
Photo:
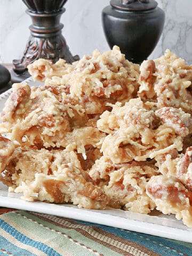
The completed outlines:
[[[99,225],[105,225],[138,233],[192,243],[192,230],[182,230],[178,228],[167,227],[154,223],[132,220],[124,217],[110,215],[107,213],[102,213],[102,211],[106,210],[99,210],[99,212],[95,212],[87,209],[74,208],[73,206],[69,207],[66,205],[57,205],[39,201],[27,202],[23,201],[20,198],[4,196],[0,196],[0,202],[0,205],[3,207],[12,207],[13,209],[17,210],[51,214],[58,217],[88,221]]]

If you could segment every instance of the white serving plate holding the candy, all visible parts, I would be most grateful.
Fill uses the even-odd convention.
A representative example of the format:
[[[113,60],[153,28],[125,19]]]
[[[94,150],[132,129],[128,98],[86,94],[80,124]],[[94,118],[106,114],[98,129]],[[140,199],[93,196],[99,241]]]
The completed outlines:
[[[41,84],[39,82],[33,82],[31,78],[28,78],[26,82],[31,86]],[[0,110],[2,110],[11,92],[12,89],[0,95]],[[157,211],[146,215],[114,209],[84,210],[69,204],[26,202],[20,199],[19,194],[8,193],[7,187],[1,182],[0,206],[90,221],[101,225],[192,243],[192,229],[183,225],[182,221],[176,220],[174,215],[164,215]]]

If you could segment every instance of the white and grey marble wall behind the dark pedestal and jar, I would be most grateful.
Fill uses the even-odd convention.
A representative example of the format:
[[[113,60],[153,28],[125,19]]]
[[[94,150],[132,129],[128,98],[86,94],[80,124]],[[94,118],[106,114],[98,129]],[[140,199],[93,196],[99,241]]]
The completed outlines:
[[[192,63],[192,1],[156,0],[165,11],[166,21],[161,39],[150,58],[169,48]],[[81,57],[94,49],[108,50],[101,25],[101,10],[109,0],[68,0],[62,15],[70,51]],[[29,37],[30,17],[21,0],[0,0],[0,62],[9,63],[22,57]]]

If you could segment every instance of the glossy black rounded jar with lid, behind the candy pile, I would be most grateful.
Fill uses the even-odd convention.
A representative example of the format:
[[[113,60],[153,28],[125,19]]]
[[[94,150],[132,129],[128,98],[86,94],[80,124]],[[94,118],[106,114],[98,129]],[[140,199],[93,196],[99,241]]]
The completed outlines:
[[[102,11],[107,42],[118,45],[126,59],[147,59],[162,34],[165,14],[154,0],[111,0]]]

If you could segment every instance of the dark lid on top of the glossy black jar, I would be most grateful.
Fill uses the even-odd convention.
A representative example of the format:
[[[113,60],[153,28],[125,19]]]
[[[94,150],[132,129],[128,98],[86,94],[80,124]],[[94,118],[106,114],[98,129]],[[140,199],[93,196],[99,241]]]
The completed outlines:
[[[121,11],[147,11],[155,9],[155,0],[111,0],[110,5]]]

